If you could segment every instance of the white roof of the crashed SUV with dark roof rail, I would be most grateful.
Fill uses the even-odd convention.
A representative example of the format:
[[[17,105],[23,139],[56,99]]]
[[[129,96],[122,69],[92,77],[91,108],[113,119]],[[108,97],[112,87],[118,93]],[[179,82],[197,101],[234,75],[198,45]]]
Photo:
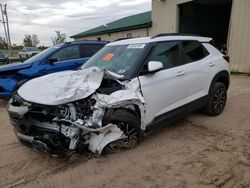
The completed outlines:
[[[126,40],[119,40],[112,43],[107,44],[107,46],[116,46],[116,45],[126,45],[126,44],[146,44],[152,42],[160,42],[160,41],[173,41],[173,40],[196,40],[200,42],[210,42],[212,38],[209,37],[201,37],[201,36],[189,36],[189,35],[166,35],[159,37],[141,37],[141,38],[132,38]]]

